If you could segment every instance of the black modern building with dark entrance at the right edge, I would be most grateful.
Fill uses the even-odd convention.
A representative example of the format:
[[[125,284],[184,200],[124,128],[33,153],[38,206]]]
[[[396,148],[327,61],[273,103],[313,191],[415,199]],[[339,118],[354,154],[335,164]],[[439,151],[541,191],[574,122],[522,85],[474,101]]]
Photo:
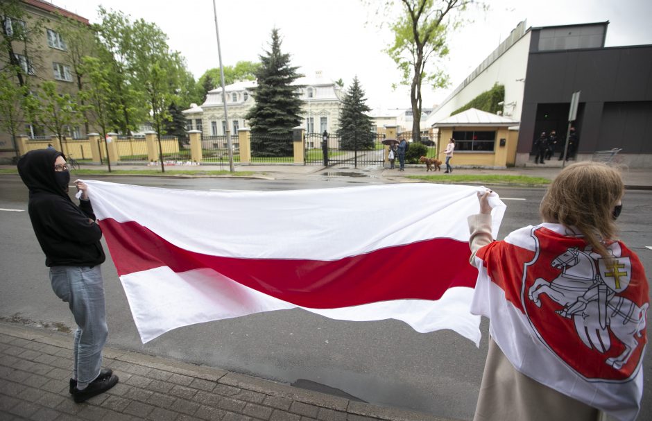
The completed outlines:
[[[605,34],[607,25],[592,24]],[[578,27],[531,29],[517,155],[530,153],[540,132],[555,129],[565,139],[570,100],[580,91],[578,158],[622,148],[626,163],[652,165],[652,45],[545,48],[544,31],[560,34],[556,44],[563,47],[563,35]]]

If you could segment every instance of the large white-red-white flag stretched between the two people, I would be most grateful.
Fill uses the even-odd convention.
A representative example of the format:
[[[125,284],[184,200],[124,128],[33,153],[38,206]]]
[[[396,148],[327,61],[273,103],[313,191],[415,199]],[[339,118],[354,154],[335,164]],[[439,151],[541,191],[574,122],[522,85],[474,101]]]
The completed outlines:
[[[144,343],[176,327],[296,307],[453,329],[479,343],[465,220],[479,210],[479,187],[87,184]],[[493,200],[497,232],[504,204]]]

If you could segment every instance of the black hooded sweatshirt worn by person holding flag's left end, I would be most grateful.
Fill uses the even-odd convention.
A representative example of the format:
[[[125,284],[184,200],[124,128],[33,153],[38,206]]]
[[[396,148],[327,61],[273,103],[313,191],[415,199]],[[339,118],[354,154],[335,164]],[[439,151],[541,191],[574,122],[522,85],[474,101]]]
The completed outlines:
[[[96,266],[105,260],[102,231],[89,200],[77,207],[55,179],[54,149],[29,151],[18,173],[29,189],[29,218],[45,253],[45,266]]]

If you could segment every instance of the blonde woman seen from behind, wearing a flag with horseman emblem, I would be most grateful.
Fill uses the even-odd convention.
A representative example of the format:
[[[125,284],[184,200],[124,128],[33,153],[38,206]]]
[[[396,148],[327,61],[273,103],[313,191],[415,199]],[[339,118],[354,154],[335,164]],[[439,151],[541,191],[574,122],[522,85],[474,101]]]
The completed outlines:
[[[490,234],[491,194],[469,217],[471,311],[490,318],[474,420],[634,420],[649,291],[637,255],[615,239],[620,173],[567,166],[542,199],[543,223],[502,241]]]

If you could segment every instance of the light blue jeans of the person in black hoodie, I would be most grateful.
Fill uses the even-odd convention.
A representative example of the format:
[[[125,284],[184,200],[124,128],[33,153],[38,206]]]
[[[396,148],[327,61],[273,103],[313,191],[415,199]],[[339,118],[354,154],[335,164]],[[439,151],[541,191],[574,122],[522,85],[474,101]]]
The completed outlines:
[[[54,293],[68,303],[77,324],[73,378],[78,388],[85,388],[100,374],[108,336],[102,271],[100,266],[53,266],[50,282]]]

